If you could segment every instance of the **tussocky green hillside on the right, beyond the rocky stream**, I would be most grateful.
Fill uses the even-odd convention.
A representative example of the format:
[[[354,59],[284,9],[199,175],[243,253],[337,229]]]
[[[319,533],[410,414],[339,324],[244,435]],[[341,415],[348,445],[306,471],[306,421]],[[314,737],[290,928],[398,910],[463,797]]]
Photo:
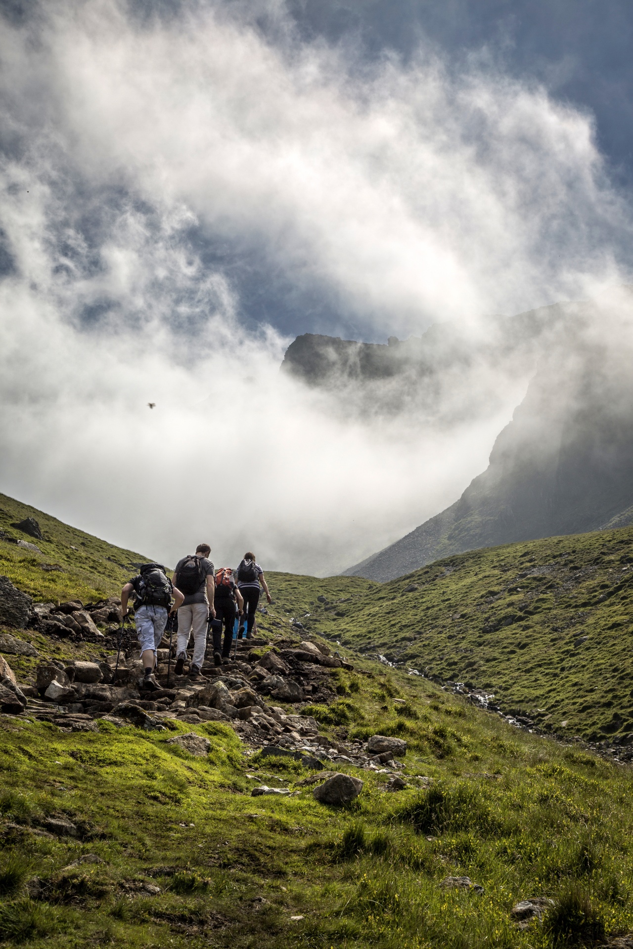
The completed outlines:
[[[348,587],[338,616],[306,596],[302,622],[483,688],[556,732],[623,736],[633,731],[632,542],[624,528],[462,553],[364,593]]]

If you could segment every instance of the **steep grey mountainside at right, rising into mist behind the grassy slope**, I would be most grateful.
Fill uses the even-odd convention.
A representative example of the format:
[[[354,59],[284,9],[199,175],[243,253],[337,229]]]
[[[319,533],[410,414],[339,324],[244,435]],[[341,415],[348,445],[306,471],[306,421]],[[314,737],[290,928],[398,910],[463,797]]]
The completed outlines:
[[[386,581],[464,550],[633,523],[633,373],[604,315],[585,310],[542,355],[455,504],[344,573]]]

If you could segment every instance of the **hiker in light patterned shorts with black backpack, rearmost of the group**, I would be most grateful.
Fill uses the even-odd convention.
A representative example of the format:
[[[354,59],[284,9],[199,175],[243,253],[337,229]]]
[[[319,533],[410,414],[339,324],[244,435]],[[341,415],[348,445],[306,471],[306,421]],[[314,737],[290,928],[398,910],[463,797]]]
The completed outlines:
[[[173,586],[162,564],[144,564],[136,577],[121,590],[121,619],[127,616],[127,601],[134,593],[134,623],[140,643],[140,659],[145,675],[142,688],[155,691],[160,686],[154,676],[156,651],[167,624],[168,615],[174,614],[184,600]]]

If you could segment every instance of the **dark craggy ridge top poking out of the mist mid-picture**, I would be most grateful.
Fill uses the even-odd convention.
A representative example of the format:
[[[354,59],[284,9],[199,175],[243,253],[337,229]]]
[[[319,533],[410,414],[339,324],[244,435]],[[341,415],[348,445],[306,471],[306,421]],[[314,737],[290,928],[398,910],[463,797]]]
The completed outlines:
[[[349,413],[417,413],[440,425],[494,412],[509,379],[525,377],[552,334],[569,318],[569,305],[542,307],[506,319],[486,332],[451,324],[388,344],[357,343],[306,333],[289,345],[281,371],[310,387],[336,393]]]

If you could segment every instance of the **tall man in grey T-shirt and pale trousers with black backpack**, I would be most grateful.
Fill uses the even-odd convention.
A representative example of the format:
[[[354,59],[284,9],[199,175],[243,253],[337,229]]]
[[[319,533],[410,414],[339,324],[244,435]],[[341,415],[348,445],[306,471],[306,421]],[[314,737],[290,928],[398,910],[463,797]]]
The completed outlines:
[[[194,631],[194,657],[189,667],[191,679],[199,679],[207,648],[207,623],[215,617],[214,565],[209,560],[211,548],[198,544],[195,554],[177,562],[174,582],[184,593],[184,602],[178,609],[178,636],[175,672],[181,676],[187,659],[189,636]]]

